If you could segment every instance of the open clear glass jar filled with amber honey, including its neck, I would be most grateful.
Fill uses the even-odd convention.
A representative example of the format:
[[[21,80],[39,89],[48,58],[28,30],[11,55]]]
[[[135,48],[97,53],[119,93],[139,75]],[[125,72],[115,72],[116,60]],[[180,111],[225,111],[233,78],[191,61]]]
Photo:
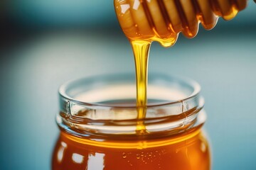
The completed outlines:
[[[200,86],[188,79],[149,77],[146,115],[138,120],[134,75],[70,81],[60,87],[60,137],[52,169],[210,169],[201,130]],[[137,125],[146,130],[137,131]]]

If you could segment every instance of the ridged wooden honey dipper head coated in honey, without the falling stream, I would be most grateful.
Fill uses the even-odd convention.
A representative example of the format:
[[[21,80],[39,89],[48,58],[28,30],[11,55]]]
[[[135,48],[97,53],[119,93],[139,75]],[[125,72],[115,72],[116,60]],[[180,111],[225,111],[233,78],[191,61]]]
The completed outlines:
[[[247,0],[114,0],[117,18],[130,40],[174,45],[178,33],[193,38],[198,23],[212,29],[218,17],[230,20]]]

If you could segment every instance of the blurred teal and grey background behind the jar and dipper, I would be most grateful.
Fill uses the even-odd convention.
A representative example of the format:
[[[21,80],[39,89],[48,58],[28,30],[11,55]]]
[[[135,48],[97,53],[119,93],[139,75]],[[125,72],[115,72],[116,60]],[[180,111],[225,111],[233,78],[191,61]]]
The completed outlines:
[[[213,169],[256,169],[256,4],[174,47],[151,47],[151,72],[202,86]],[[134,72],[113,1],[0,1],[0,169],[50,169],[58,87]]]

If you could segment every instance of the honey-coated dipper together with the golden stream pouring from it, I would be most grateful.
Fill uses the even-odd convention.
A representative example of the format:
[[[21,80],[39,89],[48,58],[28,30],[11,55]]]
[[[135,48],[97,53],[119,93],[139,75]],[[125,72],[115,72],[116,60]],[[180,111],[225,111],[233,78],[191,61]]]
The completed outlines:
[[[230,20],[247,0],[114,0],[119,24],[132,45],[137,80],[137,134],[146,133],[146,86],[151,42],[171,47],[183,33],[193,38],[198,23],[212,29],[218,17]]]

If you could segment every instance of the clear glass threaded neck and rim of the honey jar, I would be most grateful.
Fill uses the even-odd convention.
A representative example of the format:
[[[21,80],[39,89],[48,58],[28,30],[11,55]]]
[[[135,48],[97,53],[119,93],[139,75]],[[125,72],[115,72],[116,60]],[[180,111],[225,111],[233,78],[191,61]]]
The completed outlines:
[[[164,80],[166,79],[164,77]],[[176,101],[167,100],[166,98],[160,98],[161,100],[159,100],[158,97],[151,95],[154,97],[149,98],[148,105],[144,108],[145,116],[140,120],[138,119],[139,109],[134,102],[131,102],[130,97],[127,97],[127,91],[125,90],[117,95],[118,98],[120,96],[124,96],[124,98],[111,98],[108,101],[104,101],[105,98],[102,100],[101,97],[106,95],[107,98],[110,98],[112,91],[110,89],[106,90],[102,86],[98,86],[97,91],[93,93],[91,89],[86,93],[82,92],[83,97],[94,100],[94,103],[85,103],[80,100],[78,95],[76,95],[76,98],[71,98],[60,92],[60,113],[57,115],[57,123],[62,130],[71,135],[95,141],[107,139],[154,140],[156,137],[171,137],[200,129],[206,120],[206,113],[203,110],[204,101],[199,94],[199,90],[196,91],[197,87],[191,85],[193,82],[184,85],[183,81],[177,81],[173,78],[171,80],[173,81],[171,84],[176,84],[171,88],[178,84],[179,90],[188,91],[190,95]],[[95,79],[87,80],[87,84],[92,84],[92,81],[95,81]],[[78,86],[78,84],[84,83],[78,81],[76,84]],[[124,84],[125,88],[129,89],[127,81]],[[74,89],[74,84],[71,85]],[[180,89],[181,86],[183,86],[183,89]],[[112,87],[111,84],[110,88]],[[130,89],[133,89],[132,87],[134,86],[131,86]],[[115,87],[114,89],[118,88]],[[167,86],[167,88],[161,86],[161,90],[154,93],[164,96],[169,88],[170,86]],[[69,90],[68,88],[63,89],[63,91]],[[78,89],[74,91],[80,94]],[[110,94],[105,94],[106,91]],[[161,91],[164,91],[163,94],[161,94]],[[95,95],[91,94],[96,92],[100,93],[100,102],[95,102],[95,99],[92,99]],[[128,94],[130,94],[129,91]],[[137,131],[139,123],[144,125],[143,133]]]

